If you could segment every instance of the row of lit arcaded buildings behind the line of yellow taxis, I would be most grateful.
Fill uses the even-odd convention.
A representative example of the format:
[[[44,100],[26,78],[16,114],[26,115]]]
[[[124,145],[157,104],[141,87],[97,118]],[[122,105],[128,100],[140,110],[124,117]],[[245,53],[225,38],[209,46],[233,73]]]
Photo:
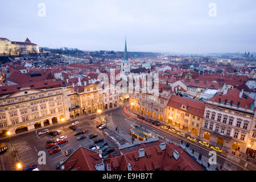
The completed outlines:
[[[245,152],[256,148],[254,100],[238,89],[206,102],[176,96],[167,84],[159,95],[129,92],[130,110],[192,137]]]

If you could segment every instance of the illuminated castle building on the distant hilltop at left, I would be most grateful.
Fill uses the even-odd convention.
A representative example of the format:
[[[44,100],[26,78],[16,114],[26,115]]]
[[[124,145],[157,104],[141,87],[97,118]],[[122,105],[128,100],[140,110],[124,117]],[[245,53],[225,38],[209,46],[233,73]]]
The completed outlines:
[[[25,42],[11,42],[9,39],[0,38],[0,55],[20,55],[39,53],[39,46],[31,43],[30,39]]]

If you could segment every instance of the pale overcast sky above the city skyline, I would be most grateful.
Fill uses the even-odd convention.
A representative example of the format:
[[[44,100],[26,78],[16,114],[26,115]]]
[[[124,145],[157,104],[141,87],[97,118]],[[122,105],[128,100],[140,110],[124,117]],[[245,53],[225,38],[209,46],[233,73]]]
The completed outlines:
[[[38,15],[39,3],[46,16]],[[123,51],[127,36],[128,51],[256,52],[255,7],[255,0],[0,0],[0,37]]]

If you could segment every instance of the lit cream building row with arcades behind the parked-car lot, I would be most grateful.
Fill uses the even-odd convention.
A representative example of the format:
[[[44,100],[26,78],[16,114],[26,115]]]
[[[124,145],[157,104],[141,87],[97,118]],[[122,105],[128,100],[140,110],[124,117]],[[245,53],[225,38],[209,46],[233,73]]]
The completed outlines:
[[[80,115],[97,113],[119,105],[118,94],[96,84],[69,85],[56,81],[20,88],[19,85],[0,88],[0,131],[11,134],[34,130],[61,119],[69,121]],[[33,86],[34,88],[31,88]]]

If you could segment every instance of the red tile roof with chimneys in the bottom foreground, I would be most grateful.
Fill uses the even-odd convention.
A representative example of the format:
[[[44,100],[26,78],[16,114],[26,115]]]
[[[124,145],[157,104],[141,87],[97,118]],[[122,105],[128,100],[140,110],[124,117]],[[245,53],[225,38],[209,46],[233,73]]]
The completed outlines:
[[[180,168],[182,170],[189,171],[203,171],[203,167],[200,166],[195,160],[193,160],[187,153],[183,151],[179,146],[175,146],[174,143],[166,143],[166,150],[162,151],[159,155],[156,148],[159,148],[159,144],[161,142],[151,142],[151,143],[143,143],[139,146],[135,146],[132,148],[126,148],[124,150],[119,151],[121,155],[113,156],[110,155],[108,159],[104,159],[105,169],[110,167],[113,171],[115,167],[118,167],[119,171],[127,171],[127,165],[131,164],[131,169],[133,171],[152,171],[155,169],[159,170],[174,170],[179,171]],[[150,150],[151,156],[147,158],[144,156],[139,158],[139,160],[135,160],[134,156],[138,158],[138,150],[140,148],[144,148],[144,150]],[[160,149],[160,148],[159,148]],[[174,156],[171,155],[171,158],[168,157],[168,154],[176,150],[179,152],[179,159],[175,160]],[[64,171],[68,171],[68,167],[70,170],[72,169],[80,169],[81,171],[94,171],[95,164],[100,164],[101,158],[95,151],[91,151],[87,148],[80,147],[75,151],[68,159],[64,162]]]

